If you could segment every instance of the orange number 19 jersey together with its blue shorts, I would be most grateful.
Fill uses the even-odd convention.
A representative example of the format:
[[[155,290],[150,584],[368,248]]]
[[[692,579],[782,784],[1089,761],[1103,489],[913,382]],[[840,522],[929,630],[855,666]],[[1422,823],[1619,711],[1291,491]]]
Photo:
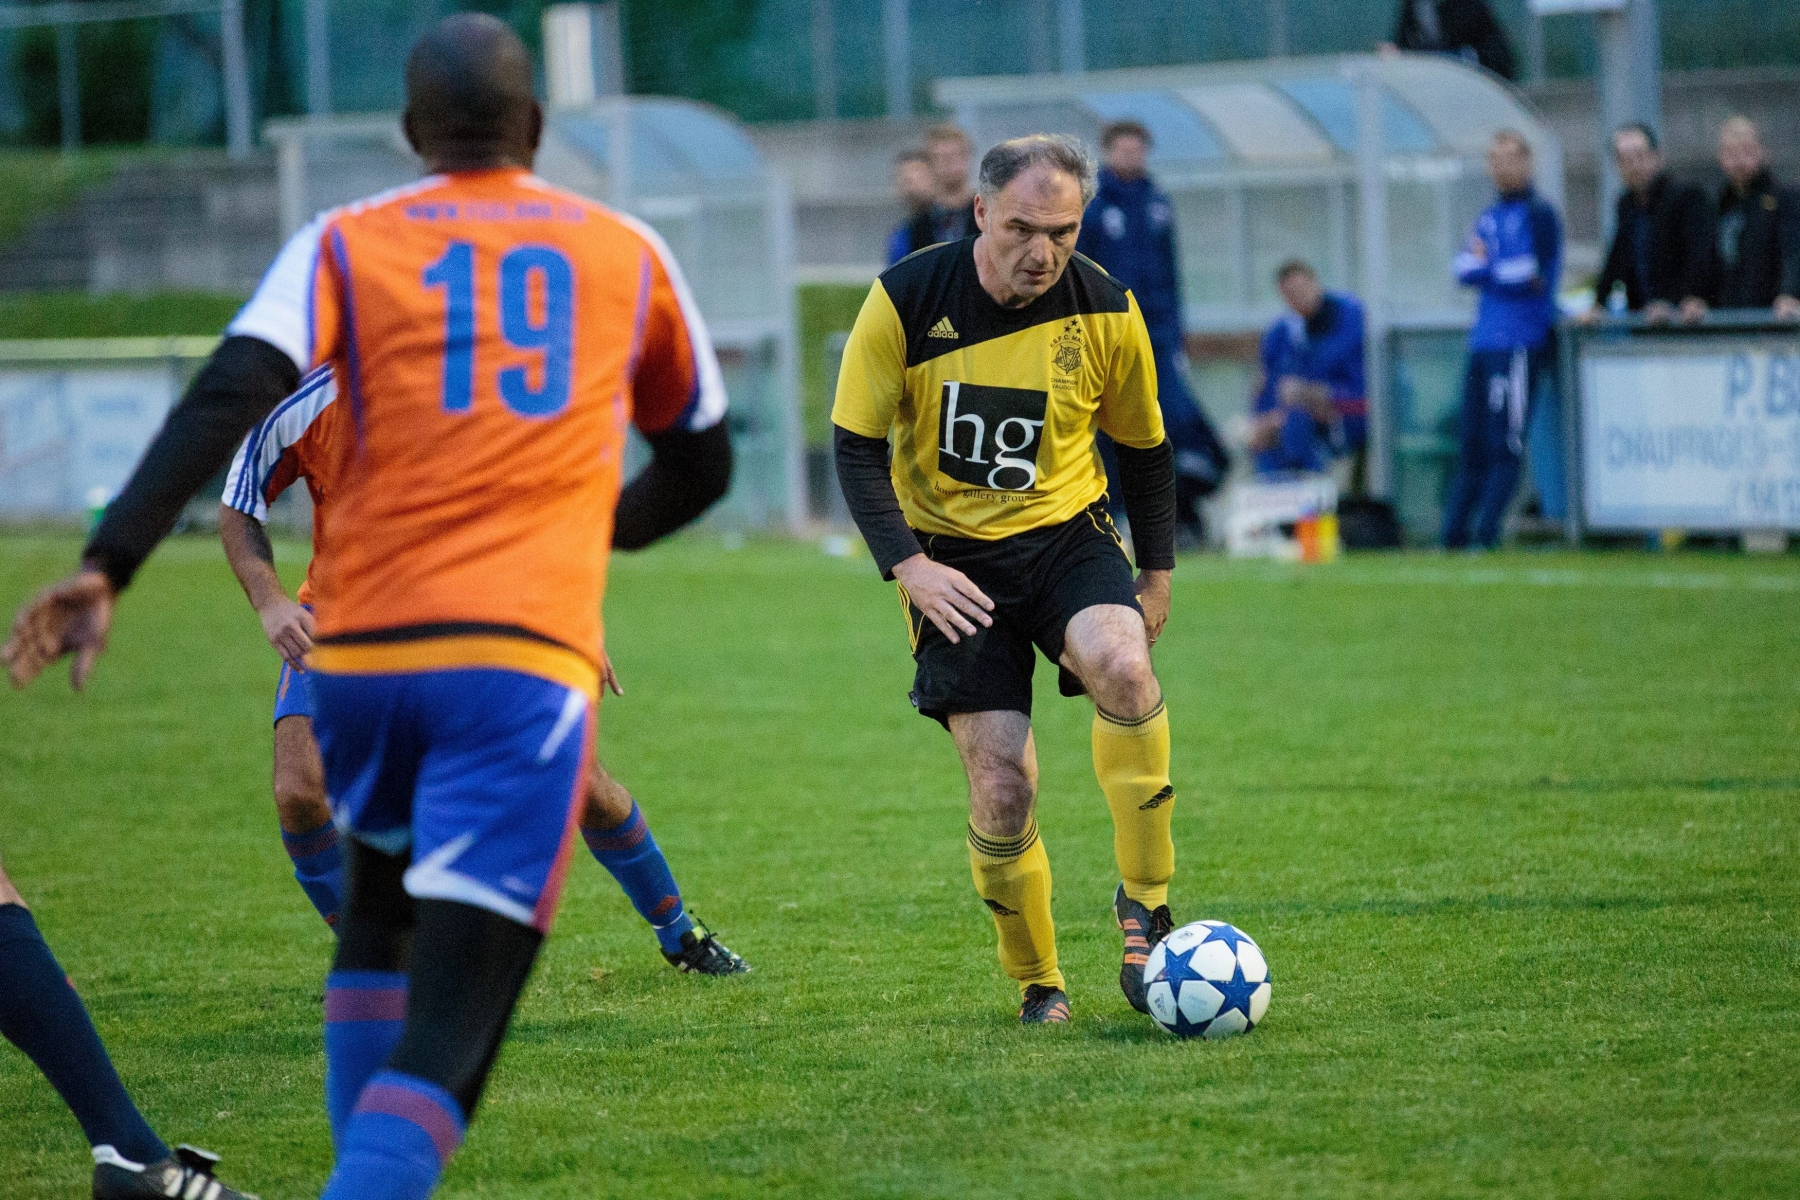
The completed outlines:
[[[648,227],[527,171],[322,214],[229,333],[304,383],[225,502],[306,479],[308,684],[337,824],[407,891],[549,927],[592,745],[626,426],[718,425],[725,390]],[[320,374],[324,369],[324,374]]]

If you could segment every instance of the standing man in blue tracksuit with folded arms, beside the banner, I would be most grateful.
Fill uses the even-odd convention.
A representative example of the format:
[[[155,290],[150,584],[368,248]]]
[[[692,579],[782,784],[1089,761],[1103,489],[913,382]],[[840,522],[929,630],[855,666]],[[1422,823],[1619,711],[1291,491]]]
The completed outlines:
[[[1541,428],[1555,389],[1562,221],[1532,187],[1532,146],[1519,133],[1494,135],[1487,169],[1499,198],[1476,218],[1454,264],[1456,281],[1480,288],[1481,300],[1469,331],[1462,452],[1444,500],[1449,549],[1467,547],[1471,538],[1481,547],[1499,543],[1499,522],[1519,486],[1526,417],[1535,407]],[[1559,434],[1552,428],[1532,439],[1532,473],[1552,518],[1562,516]]]

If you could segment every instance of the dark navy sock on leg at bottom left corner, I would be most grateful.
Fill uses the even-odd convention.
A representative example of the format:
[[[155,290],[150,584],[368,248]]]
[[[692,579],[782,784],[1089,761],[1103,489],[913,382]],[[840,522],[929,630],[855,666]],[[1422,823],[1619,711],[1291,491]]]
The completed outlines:
[[[0,1034],[38,1063],[88,1144],[112,1146],[133,1162],[169,1157],[126,1094],[81,997],[23,905],[0,905]]]

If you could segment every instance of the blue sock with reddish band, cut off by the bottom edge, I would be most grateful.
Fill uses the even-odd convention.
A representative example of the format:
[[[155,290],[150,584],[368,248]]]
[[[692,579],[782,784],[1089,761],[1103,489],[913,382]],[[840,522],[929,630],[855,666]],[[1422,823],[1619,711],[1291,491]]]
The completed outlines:
[[[400,1070],[362,1090],[338,1137],[337,1169],[320,1200],[425,1200],[463,1144],[468,1119],[450,1092]]]

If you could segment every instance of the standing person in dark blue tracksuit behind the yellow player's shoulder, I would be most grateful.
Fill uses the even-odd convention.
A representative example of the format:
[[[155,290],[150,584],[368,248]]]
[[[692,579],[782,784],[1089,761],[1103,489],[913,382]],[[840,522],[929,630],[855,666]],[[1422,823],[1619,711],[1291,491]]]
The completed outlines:
[[[1175,261],[1175,207],[1150,178],[1150,130],[1114,121],[1100,131],[1100,191],[1082,216],[1076,250],[1100,263],[1138,297],[1156,351],[1157,401],[1175,448],[1175,520],[1183,549],[1206,540],[1199,502],[1224,482],[1231,455],[1188,387]],[[1102,434],[1107,479],[1118,479],[1112,441]]]

